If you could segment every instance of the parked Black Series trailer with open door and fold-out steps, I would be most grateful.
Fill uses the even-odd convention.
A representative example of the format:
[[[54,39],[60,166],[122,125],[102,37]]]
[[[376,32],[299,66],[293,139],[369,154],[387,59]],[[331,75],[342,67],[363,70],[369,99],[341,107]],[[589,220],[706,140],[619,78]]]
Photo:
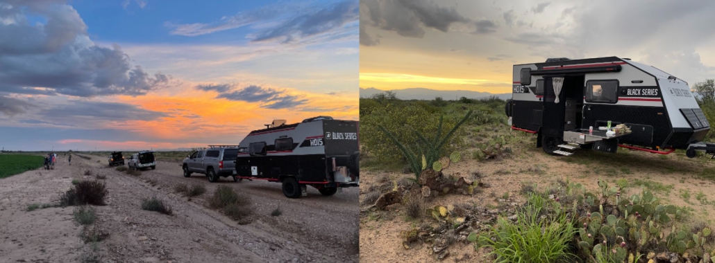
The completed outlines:
[[[551,155],[577,148],[616,153],[618,147],[669,154],[704,150],[710,130],[685,81],[629,58],[605,57],[513,66],[512,99],[506,115],[513,130],[538,135],[536,146]],[[631,133],[606,135],[599,127],[625,124]],[[589,128],[593,126],[593,132]]]

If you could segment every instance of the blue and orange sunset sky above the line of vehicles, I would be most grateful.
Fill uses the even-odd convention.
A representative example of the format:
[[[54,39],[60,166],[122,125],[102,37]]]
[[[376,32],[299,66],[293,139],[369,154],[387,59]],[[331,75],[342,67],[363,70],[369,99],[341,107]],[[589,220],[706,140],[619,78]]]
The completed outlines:
[[[0,147],[237,144],[357,120],[358,0],[0,0]]]

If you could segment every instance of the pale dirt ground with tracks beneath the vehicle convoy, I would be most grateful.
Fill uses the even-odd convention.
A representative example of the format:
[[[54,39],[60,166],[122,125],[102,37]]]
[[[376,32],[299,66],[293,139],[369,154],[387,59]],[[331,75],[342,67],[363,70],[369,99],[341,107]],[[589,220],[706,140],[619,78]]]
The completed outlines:
[[[31,203],[57,202],[72,179],[103,180],[107,205],[97,208],[97,225],[109,233],[99,242],[103,262],[358,262],[358,189],[323,197],[309,187],[307,197],[291,200],[280,184],[263,181],[210,183],[203,175],[183,177],[179,163],[157,163],[139,177],[107,166],[104,157],[73,158],[71,166],[34,170],[0,180],[0,258],[9,262],[75,262],[93,250],[79,239],[73,207],[26,211]],[[99,160],[99,163],[97,161]],[[91,170],[92,176],[84,171]],[[174,185],[202,184],[207,192],[189,200]],[[252,197],[255,216],[247,225],[205,207],[218,185],[229,185]],[[174,215],[141,209],[142,198],[166,200]],[[280,206],[282,215],[270,213]]]

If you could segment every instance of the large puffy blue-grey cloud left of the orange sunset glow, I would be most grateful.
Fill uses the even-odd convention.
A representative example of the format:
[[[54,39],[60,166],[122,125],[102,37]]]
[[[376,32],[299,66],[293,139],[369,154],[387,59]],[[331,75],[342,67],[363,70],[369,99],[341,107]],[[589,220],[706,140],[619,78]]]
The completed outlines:
[[[5,1],[1,10],[9,23],[0,23],[0,68],[12,68],[0,73],[2,92],[137,96],[169,83],[170,76],[132,66],[119,46],[92,43],[77,11],[61,1]],[[29,24],[27,11],[46,24]]]

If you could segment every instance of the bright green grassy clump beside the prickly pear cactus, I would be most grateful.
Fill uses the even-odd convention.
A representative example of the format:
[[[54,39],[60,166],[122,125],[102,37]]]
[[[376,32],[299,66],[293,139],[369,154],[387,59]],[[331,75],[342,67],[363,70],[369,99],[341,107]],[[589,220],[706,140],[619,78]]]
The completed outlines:
[[[576,228],[562,210],[540,217],[546,208],[543,197],[531,195],[516,222],[500,217],[487,234],[480,237],[496,262],[560,262],[573,258],[569,253]],[[566,262],[564,261],[564,262]]]

